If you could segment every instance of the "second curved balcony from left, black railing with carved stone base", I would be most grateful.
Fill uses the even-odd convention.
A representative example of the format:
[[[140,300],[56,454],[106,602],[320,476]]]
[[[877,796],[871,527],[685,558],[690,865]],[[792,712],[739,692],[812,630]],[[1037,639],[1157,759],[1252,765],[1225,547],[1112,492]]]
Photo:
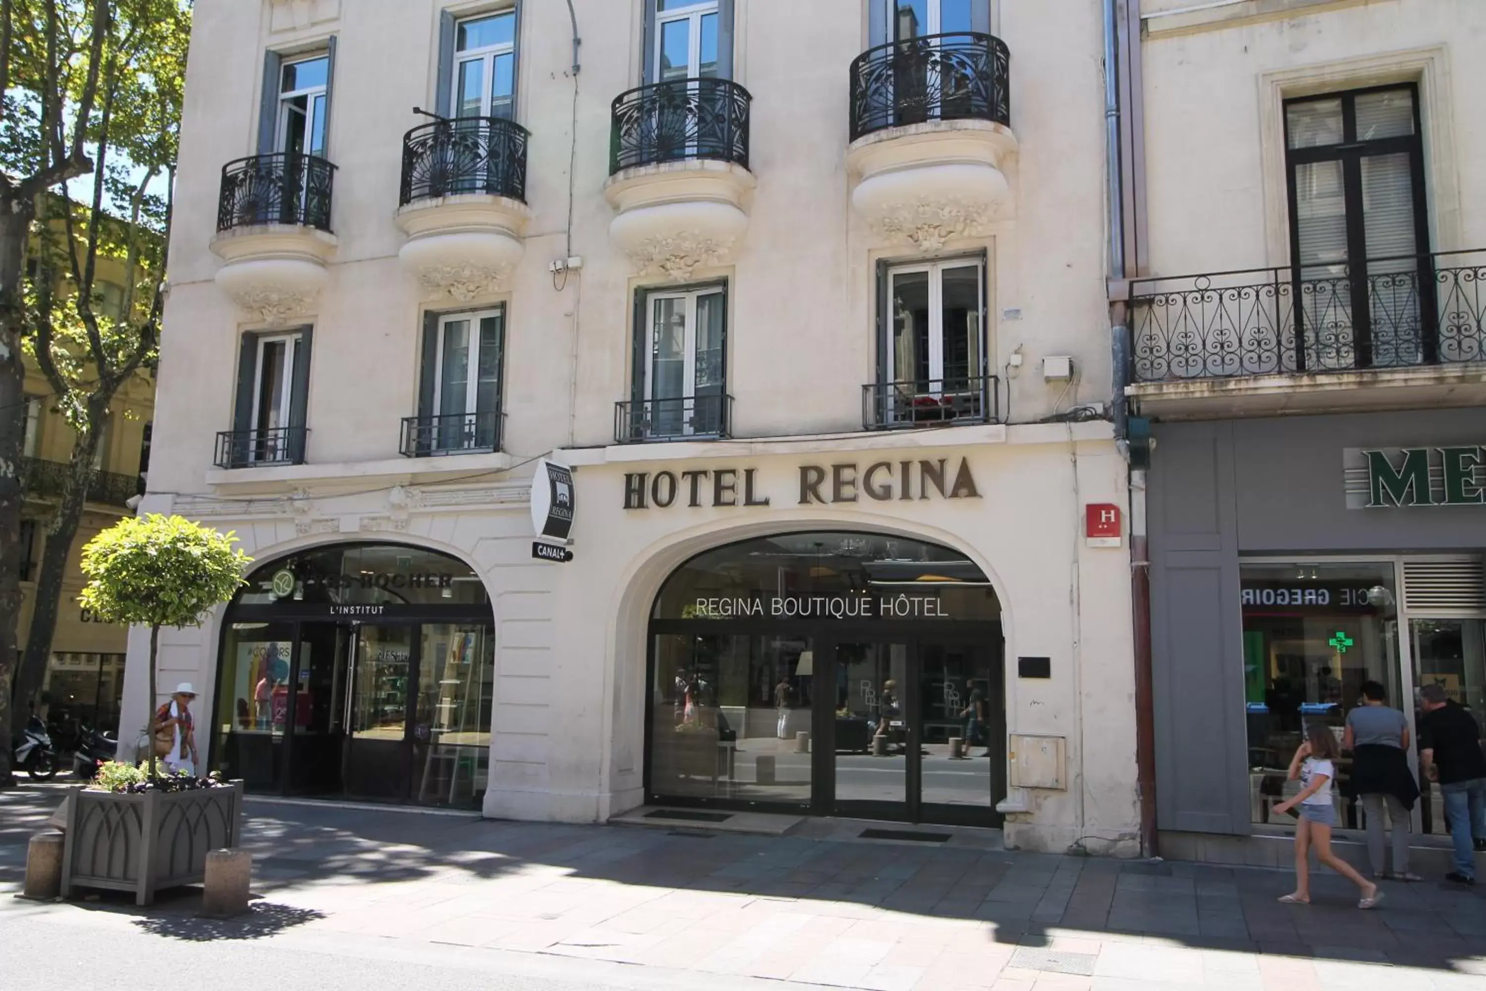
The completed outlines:
[[[425,299],[468,302],[505,287],[526,254],[526,128],[459,117],[403,137],[397,253]]]

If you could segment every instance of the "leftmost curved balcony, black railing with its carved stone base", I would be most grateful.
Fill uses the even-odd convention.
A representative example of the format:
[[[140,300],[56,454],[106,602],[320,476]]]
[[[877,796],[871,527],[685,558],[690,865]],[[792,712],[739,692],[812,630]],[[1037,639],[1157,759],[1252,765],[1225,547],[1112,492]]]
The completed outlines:
[[[336,166],[311,155],[254,155],[221,168],[217,285],[256,321],[278,327],[314,313],[336,250]]]

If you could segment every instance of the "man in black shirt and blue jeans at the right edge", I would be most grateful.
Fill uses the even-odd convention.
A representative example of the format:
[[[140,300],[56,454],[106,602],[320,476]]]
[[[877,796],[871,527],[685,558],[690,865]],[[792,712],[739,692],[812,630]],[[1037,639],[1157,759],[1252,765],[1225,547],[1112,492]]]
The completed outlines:
[[[1486,839],[1486,755],[1480,724],[1440,685],[1419,689],[1419,764],[1438,782],[1444,817],[1450,820],[1455,869],[1444,875],[1456,884],[1476,884],[1474,839]]]

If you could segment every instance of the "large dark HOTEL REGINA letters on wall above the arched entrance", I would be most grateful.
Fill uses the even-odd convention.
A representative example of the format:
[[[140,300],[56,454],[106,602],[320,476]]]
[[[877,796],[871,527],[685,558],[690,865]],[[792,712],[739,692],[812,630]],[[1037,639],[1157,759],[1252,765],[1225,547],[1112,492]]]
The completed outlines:
[[[948,458],[932,461],[877,461],[835,465],[799,465],[799,505],[837,502],[909,502],[914,499],[979,499],[981,490],[970,472],[970,459],[953,464]],[[624,475],[624,508],[669,510],[676,504],[691,508],[771,505],[758,468],[697,468],[692,471],[632,471]]]

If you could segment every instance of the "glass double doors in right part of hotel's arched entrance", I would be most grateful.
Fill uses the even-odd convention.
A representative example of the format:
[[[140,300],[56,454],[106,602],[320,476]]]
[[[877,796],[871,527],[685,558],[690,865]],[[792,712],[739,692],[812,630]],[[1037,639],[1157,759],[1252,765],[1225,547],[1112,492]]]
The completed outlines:
[[[832,657],[834,814],[996,825],[1006,709],[994,645],[843,640]]]

